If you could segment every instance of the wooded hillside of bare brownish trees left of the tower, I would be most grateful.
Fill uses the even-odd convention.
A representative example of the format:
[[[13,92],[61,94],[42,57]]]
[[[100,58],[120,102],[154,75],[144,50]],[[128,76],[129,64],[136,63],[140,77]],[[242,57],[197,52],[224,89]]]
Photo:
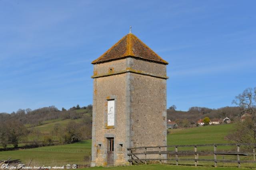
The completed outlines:
[[[84,109],[82,111],[76,110]],[[70,121],[68,125],[56,123],[54,129],[45,135],[35,129],[35,126],[42,125],[48,120],[53,119],[81,119],[80,123]],[[25,127],[30,127],[30,129]],[[51,144],[53,139],[58,139],[58,143],[73,143],[91,138],[92,131],[92,105],[86,107],[71,107],[66,110],[58,110],[55,106],[43,107],[39,109],[18,109],[11,114],[0,113],[0,145],[4,148],[12,144],[14,148],[18,143],[28,142],[27,135],[35,136],[33,145],[38,145],[38,139],[42,139],[45,144]]]

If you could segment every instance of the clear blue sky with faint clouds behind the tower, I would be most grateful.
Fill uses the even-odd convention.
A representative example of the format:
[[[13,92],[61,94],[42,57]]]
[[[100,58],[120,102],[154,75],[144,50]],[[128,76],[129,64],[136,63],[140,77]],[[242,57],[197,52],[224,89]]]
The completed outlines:
[[[254,0],[0,0],[0,112],[92,104],[92,64],[132,33],[167,65],[167,106],[256,86]]]

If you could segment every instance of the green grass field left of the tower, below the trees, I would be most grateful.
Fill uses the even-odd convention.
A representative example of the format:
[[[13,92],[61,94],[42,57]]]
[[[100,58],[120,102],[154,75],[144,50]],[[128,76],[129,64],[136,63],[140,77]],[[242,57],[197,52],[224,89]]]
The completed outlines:
[[[90,155],[91,145],[91,140],[87,140],[68,145],[2,151],[0,152],[0,160],[11,157],[12,159],[21,159],[24,163],[33,159],[33,162],[45,165],[87,164],[88,159],[85,160],[85,156]]]

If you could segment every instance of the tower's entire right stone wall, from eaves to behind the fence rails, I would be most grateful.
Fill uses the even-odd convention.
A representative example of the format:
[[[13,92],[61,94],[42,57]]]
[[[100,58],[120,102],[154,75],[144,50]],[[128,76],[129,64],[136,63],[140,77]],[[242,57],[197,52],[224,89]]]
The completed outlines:
[[[128,60],[130,60],[128,67],[144,73],[130,73],[130,146],[165,146],[167,145],[166,79],[158,76],[166,76],[166,65],[133,58]],[[148,149],[148,151],[154,150]],[[148,155],[148,158],[159,158],[158,156]],[[142,157],[144,158],[144,155]]]

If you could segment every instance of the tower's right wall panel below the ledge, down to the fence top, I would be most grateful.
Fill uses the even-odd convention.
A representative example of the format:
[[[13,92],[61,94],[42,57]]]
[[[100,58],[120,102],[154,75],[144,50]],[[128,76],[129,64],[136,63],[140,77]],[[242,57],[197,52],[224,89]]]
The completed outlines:
[[[132,74],[132,147],[166,145],[166,80]]]

